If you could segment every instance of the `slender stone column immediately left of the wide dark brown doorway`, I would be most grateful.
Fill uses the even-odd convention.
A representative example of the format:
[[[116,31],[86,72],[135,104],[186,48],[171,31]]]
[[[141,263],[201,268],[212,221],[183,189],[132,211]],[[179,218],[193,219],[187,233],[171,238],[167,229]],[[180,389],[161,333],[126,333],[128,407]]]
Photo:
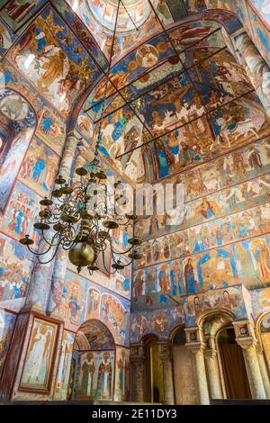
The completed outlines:
[[[223,398],[221,381],[220,381],[220,369],[217,360],[217,350],[215,349],[214,338],[208,339],[209,348],[204,351],[205,365],[208,375],[211,399]]]

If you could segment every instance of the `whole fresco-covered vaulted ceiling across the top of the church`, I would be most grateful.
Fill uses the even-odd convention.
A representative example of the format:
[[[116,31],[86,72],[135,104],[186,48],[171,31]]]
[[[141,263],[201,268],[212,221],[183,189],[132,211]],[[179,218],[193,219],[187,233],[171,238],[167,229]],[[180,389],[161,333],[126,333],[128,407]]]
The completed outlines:
[[[242,0],[10,0],[1,51],[90,144],[101,123],[123,175],[154,182],[265,133],[226,42],[235,3],[245,24]]]

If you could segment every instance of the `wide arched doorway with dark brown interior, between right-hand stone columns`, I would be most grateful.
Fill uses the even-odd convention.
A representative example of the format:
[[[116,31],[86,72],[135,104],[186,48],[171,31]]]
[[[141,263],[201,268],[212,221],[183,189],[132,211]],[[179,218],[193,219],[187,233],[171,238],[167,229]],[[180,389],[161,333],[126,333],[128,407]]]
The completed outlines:
[[[235,340],[234,329],[220,329],[216,342],[227,399],[251,399],[245,360]]]

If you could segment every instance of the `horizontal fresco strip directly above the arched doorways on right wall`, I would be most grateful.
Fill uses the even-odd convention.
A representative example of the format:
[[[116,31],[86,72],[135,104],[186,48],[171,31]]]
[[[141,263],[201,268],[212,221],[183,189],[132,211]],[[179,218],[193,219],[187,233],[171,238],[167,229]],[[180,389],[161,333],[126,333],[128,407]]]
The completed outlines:
[[[211,309],[228,309],[237,319],[245,319],[246,306],[241,286],[217,289],[208,293],[200,293],[183,297],[174,307],[163,306],[162,310],[133,310],[130,320],[130,340],[138,342],[148,333],[156,334],[158,338],[168,338],[172,329],[178,325],[192,328],[195,318],[202,311]]]

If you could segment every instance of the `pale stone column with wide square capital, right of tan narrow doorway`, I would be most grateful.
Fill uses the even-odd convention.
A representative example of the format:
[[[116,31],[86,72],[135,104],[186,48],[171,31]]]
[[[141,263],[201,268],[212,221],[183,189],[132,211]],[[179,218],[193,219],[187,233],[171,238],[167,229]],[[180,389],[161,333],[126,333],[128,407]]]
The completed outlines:
[[[200,328],[184,329],[187,343],[185,346],[191,350],[194,357],[194,369],[199,401],[202,405],[210,404],[208,383],[204,364],[205,343],[203,332]]]

